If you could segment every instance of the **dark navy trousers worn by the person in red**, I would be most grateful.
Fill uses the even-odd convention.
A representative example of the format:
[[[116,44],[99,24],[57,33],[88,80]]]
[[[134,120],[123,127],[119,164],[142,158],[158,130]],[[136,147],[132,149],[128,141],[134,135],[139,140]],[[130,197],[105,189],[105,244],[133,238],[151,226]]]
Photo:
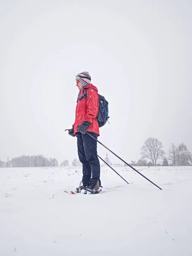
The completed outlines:
[[[97,139],[98,135],[94,132],[89,132]],[[97,142],[91,138],[87,133],[77,133],[77,148],[79,161],[83,165],[83,185],[94,188],[97,181],[100,182],[100,163],[97,157]],[[92,178],[91,178],[92,174]]]

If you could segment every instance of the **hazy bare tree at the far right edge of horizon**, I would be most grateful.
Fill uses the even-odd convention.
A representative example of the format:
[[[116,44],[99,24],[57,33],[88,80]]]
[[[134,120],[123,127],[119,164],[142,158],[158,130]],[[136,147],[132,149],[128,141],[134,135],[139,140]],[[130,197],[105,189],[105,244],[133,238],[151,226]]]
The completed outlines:
[[[192,154],[188,151],[187,146],[184,143],[178,145],[178,165],[180,166],[191,166],[192,165]]]

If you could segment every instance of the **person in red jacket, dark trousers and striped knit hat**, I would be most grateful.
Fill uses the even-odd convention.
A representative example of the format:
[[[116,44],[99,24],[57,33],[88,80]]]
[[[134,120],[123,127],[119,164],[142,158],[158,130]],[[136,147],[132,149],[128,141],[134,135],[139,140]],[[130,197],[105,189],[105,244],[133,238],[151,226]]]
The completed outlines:
[[[76,86],[79,89],[76,117],[73,127],[69,129],[69,135],[77,136],[78,156],[83,169],[82,186],[79,186],[76,192],[96,193],[102,188],[100,163],[97,157],[97,141],[89,134],[95,139],[99,136],[99,125],[96,119],[99,112],[98,89],[91,84],[91,76],[88,72],[82,72],[76,76]]]

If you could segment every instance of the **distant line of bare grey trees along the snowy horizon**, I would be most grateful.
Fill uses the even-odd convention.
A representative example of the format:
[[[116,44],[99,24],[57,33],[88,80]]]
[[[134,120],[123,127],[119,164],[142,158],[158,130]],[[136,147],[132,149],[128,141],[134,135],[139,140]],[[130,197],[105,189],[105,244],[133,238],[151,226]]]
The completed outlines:
[[[188,150],[184,143],[175,145],[172,143],[169,150],[163,150],[163,144],[156,138],[149,137],[145,140],[144,145],[140,151],[141,159],[131,161],[131,166],[192,166],[192,153]],[[161,161],[161,163],[160,163]],[[108,165],[118,166],[119,164],[112,164],[106,154],[105,162]],[[60,166],[69,166],[69,160],[64,160]],[[71,162],[72,166],[81,166],[78,158],[74,158]],[[12,158],[7,162],[0,160],[0,167],[55,167],[59,166],[56,158],[46,158],[43,155],[26,156]]]

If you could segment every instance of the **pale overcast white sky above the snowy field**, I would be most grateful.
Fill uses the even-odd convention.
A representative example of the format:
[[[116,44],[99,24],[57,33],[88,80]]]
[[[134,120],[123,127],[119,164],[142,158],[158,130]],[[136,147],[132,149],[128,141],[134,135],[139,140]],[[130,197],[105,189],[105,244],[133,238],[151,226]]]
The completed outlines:
[[[109,102],[98,140],[125,161],[148,137],[192,151],[190,0],[1,1],[0,36],[0,160],[77,157],[64,130],[83,71]]]

